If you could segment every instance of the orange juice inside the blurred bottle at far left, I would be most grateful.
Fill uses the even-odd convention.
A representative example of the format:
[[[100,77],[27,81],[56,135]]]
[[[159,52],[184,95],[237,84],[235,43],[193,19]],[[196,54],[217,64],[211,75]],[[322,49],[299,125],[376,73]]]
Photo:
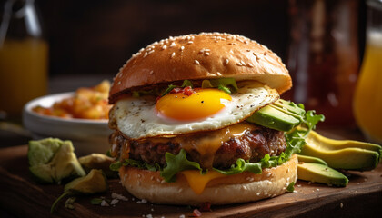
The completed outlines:
[[[0,47],[0,111],[20,116],[26,102],[46,94],[47,60],[44,40],[5,39]]]

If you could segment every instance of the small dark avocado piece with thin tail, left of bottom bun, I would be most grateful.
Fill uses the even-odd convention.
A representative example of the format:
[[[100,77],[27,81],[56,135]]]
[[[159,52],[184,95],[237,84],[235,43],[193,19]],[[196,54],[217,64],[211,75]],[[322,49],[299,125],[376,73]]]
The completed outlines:
[[[86,176],[77,178],[64,187],[64,193],[61,194],[52,204],[50,213],[55,211],[55,205],[65,196],[88,195],[93,193],[105,193],[109,186],[107,184],[106,175],[102,170],[91,170]]]

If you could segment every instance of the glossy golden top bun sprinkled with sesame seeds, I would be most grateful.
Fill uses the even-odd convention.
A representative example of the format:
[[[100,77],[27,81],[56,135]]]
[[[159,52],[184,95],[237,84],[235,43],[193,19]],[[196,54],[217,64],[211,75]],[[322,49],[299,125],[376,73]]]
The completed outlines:
[[[256,80],[279,94],[292,87],[286,66],[266,46],[241,35],[201,33],[170,36],[133,54],[116,74],[109,102],[140,86],[220,77]]]

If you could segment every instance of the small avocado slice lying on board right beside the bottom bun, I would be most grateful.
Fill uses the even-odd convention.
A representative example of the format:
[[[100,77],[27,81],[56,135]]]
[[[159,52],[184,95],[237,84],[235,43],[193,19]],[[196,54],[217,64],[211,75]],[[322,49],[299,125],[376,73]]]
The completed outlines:
[[[349,181],[344,174],[320,163],[298,163],[297,175],[299,180],[343,187]]]

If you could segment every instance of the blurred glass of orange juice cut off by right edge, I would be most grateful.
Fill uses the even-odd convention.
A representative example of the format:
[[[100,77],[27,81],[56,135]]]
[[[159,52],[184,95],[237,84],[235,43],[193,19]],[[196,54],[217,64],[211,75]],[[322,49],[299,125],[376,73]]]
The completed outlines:
[[[382,0],[368,0],[367,8],[367,45],[354,114],[367,139],[382,144]]]

